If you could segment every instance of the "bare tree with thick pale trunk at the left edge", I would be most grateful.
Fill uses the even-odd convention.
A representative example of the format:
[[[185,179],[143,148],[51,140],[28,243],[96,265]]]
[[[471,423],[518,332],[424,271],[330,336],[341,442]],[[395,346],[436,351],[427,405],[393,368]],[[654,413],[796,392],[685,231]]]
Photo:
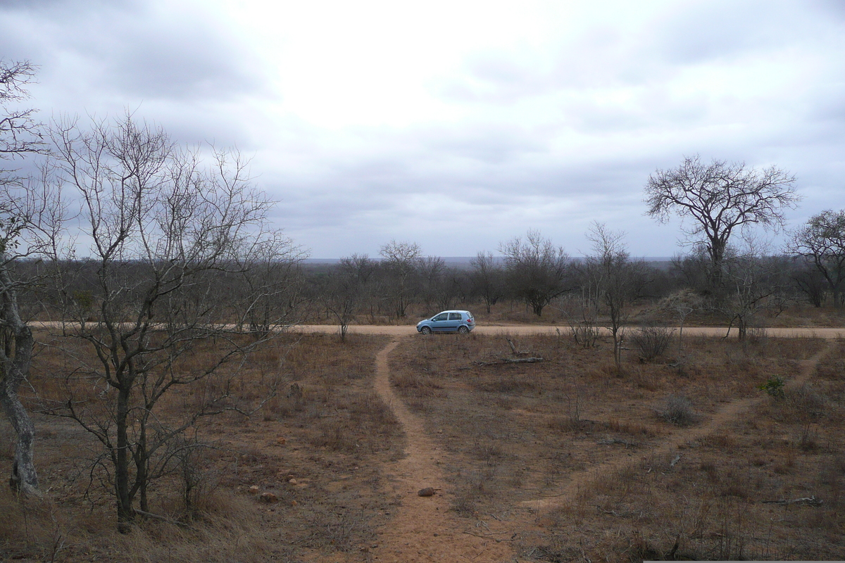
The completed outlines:
[[[29,98],[26,85],[35,78],[28,61],[0,61],[0,160],[24,159],[46,152],[35,110],[16,106]],[[20,314],[18,291],[35,283],[17,279],[14,264],[38,252],[60,222],[58,193],[30,192],[12,169],[0,169],[0,404],[18,436],[9,483],[27,495],[40,495],[35,471],[35,425],[19,398],[30,373],[34,340]]]

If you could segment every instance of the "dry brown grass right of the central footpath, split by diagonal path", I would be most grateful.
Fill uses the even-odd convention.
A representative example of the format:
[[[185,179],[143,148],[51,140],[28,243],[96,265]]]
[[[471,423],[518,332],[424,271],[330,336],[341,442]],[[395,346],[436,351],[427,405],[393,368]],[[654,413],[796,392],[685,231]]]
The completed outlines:
[[[438,390],[423,398],[421,412],[432,430],[443,430],[433,436],[451,453],[458,514],[514,517],[586,477],[574,497],[560,497],[562,506],[515,533],[526,560],[845,555],[845,346],[812,383],[777,401],[757,387],[770,376],[789,382],[825,343],[688,338],[683,374],[670,348],[646,365],[630,352],[619,376],[609,343],[583,349],[565,339],[516,340],[517,349],[545,361],[479,365],[510,356],[510,347],[504,338],[472,335],[410,339],[391,368],[397,381],[424,373]],[[759,406],[726,428],[651,453],[686,431],[675,425],[695,430],[726,402],[745,398],[760,398]],[[673,415],[662,420],[656,410]],[[824,503],[761,502],[811,495]]]

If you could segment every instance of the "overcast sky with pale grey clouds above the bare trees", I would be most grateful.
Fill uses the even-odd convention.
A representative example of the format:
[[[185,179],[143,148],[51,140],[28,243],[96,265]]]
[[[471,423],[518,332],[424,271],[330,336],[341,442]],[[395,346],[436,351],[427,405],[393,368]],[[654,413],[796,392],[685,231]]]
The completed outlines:
[[[570,254],[592,221],[682,251],[642,190],[684,155],[777,165],[845,207],[845,3],[0,0],[43,120],[136,116],[236,146],[313,257],[417,241]]]

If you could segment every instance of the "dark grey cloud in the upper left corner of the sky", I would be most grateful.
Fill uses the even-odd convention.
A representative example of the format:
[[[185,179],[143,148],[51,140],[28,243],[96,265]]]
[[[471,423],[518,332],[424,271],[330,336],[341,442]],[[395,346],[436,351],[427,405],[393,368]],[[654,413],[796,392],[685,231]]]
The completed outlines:
[[[100,95],[226,100],[261,84],[254,55],[204,14],[174,21],[135,2],[44,5],[11,11],[40,34],[26,38],[27,58],[55,78],[85,81],[85,89]]]

